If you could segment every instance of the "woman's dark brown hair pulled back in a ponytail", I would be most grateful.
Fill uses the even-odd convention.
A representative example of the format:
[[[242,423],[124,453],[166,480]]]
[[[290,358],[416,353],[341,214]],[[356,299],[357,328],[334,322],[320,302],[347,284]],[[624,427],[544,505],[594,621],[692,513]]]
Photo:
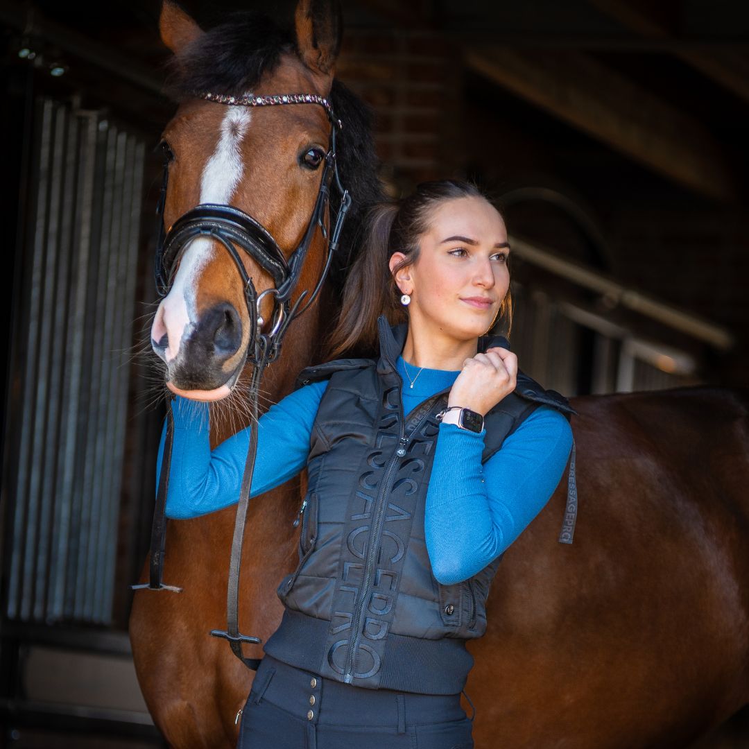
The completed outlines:
[[[419,259],[419,240],[428,231],[433,211],[459,198],[487,200],[470,182],[440,180],[423,182],[407,198],[378,204],[369,211],[363,247],[346,279],[338,324],[330,335],[330,357],[351,352],[372,353],[380,315],[385,315],[391,325],[407,321],[395,273]],[[391,272],[389,260],[393,252],[403,252],[405,258]],[[509,328],[512,320],[509,291],[500,305],[499,317]]]

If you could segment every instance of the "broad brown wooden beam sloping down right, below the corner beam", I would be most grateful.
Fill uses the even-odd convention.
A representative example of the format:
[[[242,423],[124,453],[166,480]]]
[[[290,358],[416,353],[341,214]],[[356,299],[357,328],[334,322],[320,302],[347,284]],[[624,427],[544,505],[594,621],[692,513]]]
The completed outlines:
[[[721,146],[698,121],[586,55],[469,48],[468,67],[622,154],[720,201],[736,198]]]

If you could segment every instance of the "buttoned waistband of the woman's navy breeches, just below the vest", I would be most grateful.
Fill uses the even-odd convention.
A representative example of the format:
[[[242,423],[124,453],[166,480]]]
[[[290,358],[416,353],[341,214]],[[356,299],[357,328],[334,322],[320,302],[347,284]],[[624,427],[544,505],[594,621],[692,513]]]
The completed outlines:
[[[362,689],[327,679],[266,655],[249,701],[261,700],[313,724],[393,727],[460,721],[460,694],[411,694]]]

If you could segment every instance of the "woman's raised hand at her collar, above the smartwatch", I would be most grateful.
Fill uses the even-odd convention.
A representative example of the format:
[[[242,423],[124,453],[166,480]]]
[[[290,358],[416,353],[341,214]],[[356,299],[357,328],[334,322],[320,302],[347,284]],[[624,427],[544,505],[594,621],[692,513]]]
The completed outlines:
[[[485,354],[464,361],[447,404],[485,416],[515,389],[517,377],[518,357],[506,348],[488,348]]]

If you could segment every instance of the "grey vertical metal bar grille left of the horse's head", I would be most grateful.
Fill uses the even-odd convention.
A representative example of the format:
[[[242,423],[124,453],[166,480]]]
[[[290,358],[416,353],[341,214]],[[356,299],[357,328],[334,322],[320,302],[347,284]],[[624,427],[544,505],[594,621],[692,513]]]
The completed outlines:
[[[145,148],[36,106],[7,616],[108,623]]]

